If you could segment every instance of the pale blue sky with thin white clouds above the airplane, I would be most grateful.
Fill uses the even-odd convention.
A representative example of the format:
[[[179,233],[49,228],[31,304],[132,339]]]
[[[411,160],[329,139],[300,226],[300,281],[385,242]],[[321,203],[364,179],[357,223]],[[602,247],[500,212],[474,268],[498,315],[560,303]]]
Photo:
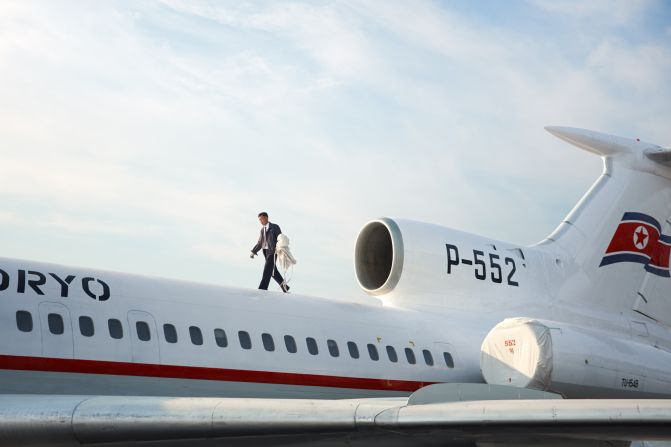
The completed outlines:
[[[601,172],[543,128],[671,146],[671,3],[0,2],[0,256],[343,300],[359,229],[529,245]],[[271,289],[279,290],[276,284]]]

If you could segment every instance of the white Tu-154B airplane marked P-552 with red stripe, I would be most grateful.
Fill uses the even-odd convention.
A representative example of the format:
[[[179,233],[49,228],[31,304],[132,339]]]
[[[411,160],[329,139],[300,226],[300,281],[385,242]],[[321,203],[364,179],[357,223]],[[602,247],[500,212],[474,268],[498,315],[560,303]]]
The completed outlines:
[[[372,220],[368,302],[0,258],[0,444],[671,440],[671,149],[546,129],[604,166],[552,234]]]

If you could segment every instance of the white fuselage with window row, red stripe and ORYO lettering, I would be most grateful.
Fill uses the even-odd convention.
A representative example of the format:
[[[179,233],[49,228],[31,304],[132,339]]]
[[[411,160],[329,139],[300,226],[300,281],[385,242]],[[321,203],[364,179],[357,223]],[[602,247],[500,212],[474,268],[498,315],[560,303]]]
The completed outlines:
[[[0,393],[346,398],[482,381],[482,337],[476,334],[492,323],[475,325],[465,315],[450,322],[373,299],[343,303],[31,262],[1,264],[8,284],[0,291]],[[39,284],[39,273],[46,278],[36,285],[42,295],[28,282]],[[67,296],[52,273],[75,277]],[[103,295],[104,283],[109,298],[89,296],[85,278],[94,278],[87,283],[91,295]],[[26,312],[31,330],[18,327]],[[120,338],[112,337],[110,320],[121,323]],[[165,325],[174,326],[176,342],[168,341],[174,339]],[[390,360],[388,347],[397,361]],[[414,364],[407,355],[414,355]]]

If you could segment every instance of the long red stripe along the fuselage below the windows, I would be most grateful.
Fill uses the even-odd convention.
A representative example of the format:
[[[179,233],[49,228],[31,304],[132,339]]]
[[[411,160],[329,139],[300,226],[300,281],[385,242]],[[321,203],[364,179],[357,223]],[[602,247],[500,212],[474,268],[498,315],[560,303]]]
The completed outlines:
[[[100,360],[59,359],[0,355],[0,369],[47,371],[79,374],[110,374],[191,380],[219,380],[331,388],[355,388],[384,391],[416,391],[435,382],[325,376],[274,371],[205,368],[199,366],[156,365],[150,363],[109,362]]]

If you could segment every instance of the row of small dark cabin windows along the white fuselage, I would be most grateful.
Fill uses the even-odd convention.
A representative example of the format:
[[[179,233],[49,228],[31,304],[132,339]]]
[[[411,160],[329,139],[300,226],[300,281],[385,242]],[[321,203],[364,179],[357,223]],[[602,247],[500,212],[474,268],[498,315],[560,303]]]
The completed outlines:
[[[49,327],[49,332],[54,335],[62,335],[65,332],[65,324],[63,322],[63,317],[58,313],[50,313],[47,315],[47,325]],[[26,310],[19,310],[16,312],[16,326],[22,332],[32,332],[33,330],[33,316],[30,312]],[[123,338],[123,325],[121,321],[116,318],[110,318],[107,320],[107,329],[109,331],[110,337],[114,339]],[[137,338],[141,341],[151,340],[151,331],[149,329],[149,324],[146,321],[136,321],[135,322],[135,331]],[[82,315],[79,317],[79,333],[84,337],[92,337],[95,333],[95,328],[93,324],[93,319],[91,317]],[[163,325],[163,336],[167,343],[177,343],[177,329],[174,325],[166,323]],[[191,343],[200,346],[203,344],[203,333],[198,326],[189,326],[189,337]],[[214,330],[214,341],[220,348],[226,348],[228,346],[228,337],[226,336],[226,331],[223,329]],[[240,342],[240,347],[242,349],[252,349],[252,339],[247,331],[238,331],[238,341]],[[261,342],[263,348],[266,351],[272,352],[275,351],[275,341],[273,336],[269,333],[261,334]],[[319,347],[317,341],[312,337],[307,337],[305,339],[305,344],[308,352],[311,355],[319,354]],[[295,354],[298,352],[298,345],[296,340],[291,335],[284,336],[284,345],[290,354]],[[326,340],[326,347],[328,348],[329,354],[332,357],[340,356],[340,349],[338,343],[335,340],[328,339]],[[366,345],[368,351],[368,357],[373,361],[380,360],[380,354],[378,352],[377,346],[372,343]],[[347,342],[347,350],[349,355],[353,359],[358,359],[360,357],[359,347],[353,341]],[[387,345],[385,347],[387,353],[387,358],[392,363],[398,362],[398,354],[396,349]],[[411,365],[417,363],[417,358],[415,356],[415,351],[412,348],[404,348],[404,354],[407,362]],[[424,363],[427,366],[434,366],[433,355],[428,349],[422,349],[422,357],[424,358]],[[443,360],[445,361],[445,366],[448,368],[454,368],[454,359],[452,354],[449,352],[443,352]]]

